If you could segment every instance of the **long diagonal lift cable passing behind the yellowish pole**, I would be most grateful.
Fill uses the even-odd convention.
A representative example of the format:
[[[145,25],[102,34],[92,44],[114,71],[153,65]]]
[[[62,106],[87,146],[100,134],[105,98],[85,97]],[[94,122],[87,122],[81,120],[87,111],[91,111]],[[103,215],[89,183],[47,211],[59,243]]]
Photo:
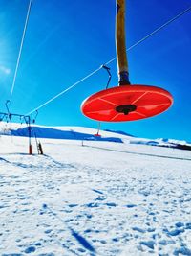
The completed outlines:
[[[177,14],[175,17],[171,18],[170,20],[168,20],[167,22],[165,22],[163,25],[159,26],[159,28],[157,28],[156,30],[154,30],[152,33],[145,35],[144,37],[142,37],[140,40],[138,40],[138,42],[136,42],[135,44],[133,44],[132,46],[130,46],[126,52],[134,49],[135,47],[137,47],[140,43],[144,42],[146,39],[148,39],[149,37],[151,37],[152,35],[157,34],[159,31],[161,31],[162,29],[164,29],[165,27],[167,27],[168,25],[170,25],[172,22],[174,22],[175,20],[177,20],[178,18],[180,18],[180,16],[184,15],[186,12],[191,11],[191,6],[187,9],[185,9],[184,11],[180,12],[179,14]],[[111,62],[113,62],[115,58],[110,59],[109,61],[107,61],[106,63],[104,63],[104,66],[110,64]],[[50,103],[52,103],[55,99],[57,99],[58,97],[60,97],[61,95],[65,94],[66,92],[68,92],[69,90],[71,90],[72,88],[74,88],[76,85],[78,85],[79,83],[81,83],[82,81],[85,81],[87,79],[89,79],[90,77],[92,77],[93,75],[95,75],[100,69],[102,69],[103,65],[101,65],[99,68],[97,68],[95,71],[93,71],[92,73],[90,73],[89,75],[85,76],[84,78],[80,79],[79,81],[74,82],[74,84],[72,84],[70,87],[64,89],[63,91],[61,91],[60,93],[56,94],[55,96],[53,96],[53,98],[51,98],[50,100],[48,100],[47,102],[45,102],[42,105],[39,105],[38,107],[32,109],[32,111],[30,111],[29,113],[27,113],[27,115],[31,115],[33,112],[35,112],[36,110],[39,110],[40,108],[42,108],[45,105],[48,105]]]

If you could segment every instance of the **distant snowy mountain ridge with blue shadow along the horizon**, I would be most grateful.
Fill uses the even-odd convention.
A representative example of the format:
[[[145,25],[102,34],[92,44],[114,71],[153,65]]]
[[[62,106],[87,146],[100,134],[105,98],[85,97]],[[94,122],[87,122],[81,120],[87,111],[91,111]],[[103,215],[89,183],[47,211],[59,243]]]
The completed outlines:
[[[29,129],[26,125],[0,123],[0,134],[13,136],[29,136]],[[116,131],[111,129],[100,130],[97,134],[95,128],[83,127],[45,127],[32,126],[32,137],[65,139],[65,140],[90,140],[90,141],[108,141],[125,144],[140,144],[155,147],[176,148],[180,150],[191,150],[191,144],[186,141],[175,139],[147,139],[138,138],[124,131]]]

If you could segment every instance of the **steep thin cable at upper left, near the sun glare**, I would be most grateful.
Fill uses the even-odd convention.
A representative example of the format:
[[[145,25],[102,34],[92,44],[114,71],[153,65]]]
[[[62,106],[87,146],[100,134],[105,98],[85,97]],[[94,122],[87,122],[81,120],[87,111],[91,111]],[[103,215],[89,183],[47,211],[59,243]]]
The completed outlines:
[[[25,26],[24,26],[23,35],[22,35],[21,44],[20,44],[20,49],[19,49],[19,53],[18,53],[18,58],[17,58],[17,61],[16,61],[14,77],[13,77],[13,81],[12,81],[12,85],[11,85],[10,101],[11,101],[11,97],[12,97],[14,86],[15,86],[16,76],[17,76],[17,72],[18,72],[18,67],[19,67],[19,63],[20,63],[21,53],[22,53],[22,49],[23,49],[23,43],[24,43],[26,31],[27,31],[27,26],[28,26],[28,21],[29,21],[29,16],[30,16],[31,9],[32,9],[32,0],[30,0],[30,3],[29,3],[28,12],[27,12],[26,20],[25,20]]]

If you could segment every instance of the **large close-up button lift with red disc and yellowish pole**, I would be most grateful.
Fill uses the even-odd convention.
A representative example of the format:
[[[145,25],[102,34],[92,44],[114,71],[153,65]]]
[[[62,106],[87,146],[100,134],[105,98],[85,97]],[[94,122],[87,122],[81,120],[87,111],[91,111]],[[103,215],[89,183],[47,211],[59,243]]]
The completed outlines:
[[[131,84],[125,46],[125,0],[117,0],[116,46],[118,85],[88,97],[82,113],[96,121],[123,122],[162,113],[173,104],[172,95],[157,86]]]

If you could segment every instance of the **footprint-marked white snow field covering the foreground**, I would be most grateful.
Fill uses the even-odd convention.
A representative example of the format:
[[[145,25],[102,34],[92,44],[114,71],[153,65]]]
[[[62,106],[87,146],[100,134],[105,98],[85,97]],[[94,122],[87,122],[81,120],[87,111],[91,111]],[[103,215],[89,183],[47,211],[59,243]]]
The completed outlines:
[[[191,255],[191,151],[41,142],[0,137],[0,255]]]

